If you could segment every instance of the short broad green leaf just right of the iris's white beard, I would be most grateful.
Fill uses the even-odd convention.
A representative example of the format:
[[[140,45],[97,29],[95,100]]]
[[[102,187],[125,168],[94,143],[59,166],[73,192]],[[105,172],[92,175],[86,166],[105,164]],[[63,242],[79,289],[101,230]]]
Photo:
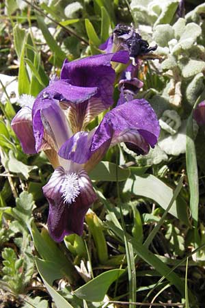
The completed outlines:
[[[131,171],[128,168],[118,166],[118,181],[126,180],[130,174]],[[110,162],[100,162],[89,175],[94,181],[117,181],[116,165]]]

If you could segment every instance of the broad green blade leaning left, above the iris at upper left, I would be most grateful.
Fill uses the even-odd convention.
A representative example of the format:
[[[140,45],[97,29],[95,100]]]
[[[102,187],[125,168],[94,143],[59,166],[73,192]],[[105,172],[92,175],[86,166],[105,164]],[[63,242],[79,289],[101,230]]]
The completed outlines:
[[[66,54],[64,53],[64,51],[61,50],[61,48],[58,46],[57,42],[49,32],[48,27],[44,23],[44,18],[36,13],[36,19],[38,21],[38,26],[40,27],[42,34],[46,40],[46,43],[49,45],[51,51],[53,51],[55,55],[57,66],[61,67],[62,63],[66,59]]]

